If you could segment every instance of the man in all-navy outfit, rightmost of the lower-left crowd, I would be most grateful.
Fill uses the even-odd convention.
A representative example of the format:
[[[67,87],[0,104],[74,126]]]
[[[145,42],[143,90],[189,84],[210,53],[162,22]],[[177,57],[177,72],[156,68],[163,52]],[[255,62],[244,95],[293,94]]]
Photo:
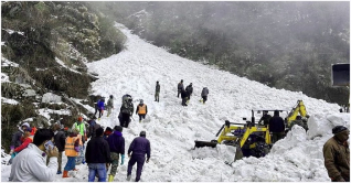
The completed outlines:
[[[146,132],[140,131],[140,137],[137,137],[132,140],[128,149],[128,171],[127,171],[127,181],[130,181],[131,177],[131,169],[134,164],[137,163],[137,176],[136,182],[139,182],[141,176],[141,171],[145,162],[149,162],[150,160],[150,141],[146,138]],[[132,154],[130,155],[130,153]],[[147,160],[145,161],[145,154],[147,154]]]

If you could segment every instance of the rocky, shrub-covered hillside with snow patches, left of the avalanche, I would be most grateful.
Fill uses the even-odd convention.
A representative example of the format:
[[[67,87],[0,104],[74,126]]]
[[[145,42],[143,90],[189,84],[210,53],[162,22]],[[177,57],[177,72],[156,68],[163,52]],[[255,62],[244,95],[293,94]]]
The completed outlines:
[[[109,19],[85,2],[2,1],[1,147],[9,151],[23,121],[72,125],[86,114],[74,101],[93,106],[96,97],[88,96],[96,74],[87,73],[86,63],[119,53],[124,40]],[[41,110],[51,112],[43,116]]]

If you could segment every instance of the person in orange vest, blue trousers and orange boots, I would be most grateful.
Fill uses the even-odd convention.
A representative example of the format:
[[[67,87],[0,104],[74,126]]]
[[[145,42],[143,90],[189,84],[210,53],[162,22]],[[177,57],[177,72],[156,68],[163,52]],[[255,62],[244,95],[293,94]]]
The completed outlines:
[[[67,163],[65,168],[63,169],[63,175],[62,177],[70,177],[68,171],[76,170],[75,169],[75,162],[76,157],[79,154],[79,146],[83,144],[79,131],[75,128],[73,128],[70,132],[70,136],[66,138],[65,141],[65,154],[67,157]]]

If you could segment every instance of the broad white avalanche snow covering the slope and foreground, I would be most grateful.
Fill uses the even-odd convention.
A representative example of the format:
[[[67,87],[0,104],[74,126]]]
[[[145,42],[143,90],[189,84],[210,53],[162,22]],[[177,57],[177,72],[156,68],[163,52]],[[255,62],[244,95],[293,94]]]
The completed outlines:
[[[141,130],[146,130],[151,142],[151,159],[143,165],[142,182],[330,181],[323,165],[322,146],[332,137],[331,129],[334,126],[350,127],[350,115],[340,114],[339,105],[310,98],[302,93],[269,88],[179,57],[142,41],[121,24],[116,26],[127,35],[127,49],[117,55],[87,64],[88,72],[98,74],[98,79],[92,83],[92,94],[106,98],[114,95],[113,114],[98,120],[104,127],[119,125],[117,117],[123,95],[130,94],[135,107],[139,99],[148,105],[147,118],[139,123],[138,116],[134,115],[129,128],[123,131],[126,151]],[[180,79],[184,79],[184,86],[193,84],[193,96],[188,107],[182,107],[181,99],[177,97]],[[157,80],[161,85],[160,103],[153,98]],[[199,103],[203,87],[210,90],[205,105]],[[251,157],[233,162],[233,147],[219,144],[216,148],[193,149],[194,140],[216,139],[215,133],[224,120],[244,122],[242,118],[249,119],[252,109],[290,110],[299,99],[304,100],[311,116],[308,121],[309,131],[295,126],[285,139],[274,144],[265,158]],[[87,109],[94,112],[93,107]],[[7,158],[4,155],[3,159]],[[63,155],[63,166],[65,163],[66,157]],[[114,181],[126,181],[127,164],[126,155],[125,164],[118,166]],[[87,166],[82,164],[77,169],[79,171],[70,173],[74,177],[62,179],[62,175],[55,175],[55,181],[87,181]],[[2,165],[1,170],[1,181],[8,181],[9,166]],[[136,165],[132,180],[135,175]]]

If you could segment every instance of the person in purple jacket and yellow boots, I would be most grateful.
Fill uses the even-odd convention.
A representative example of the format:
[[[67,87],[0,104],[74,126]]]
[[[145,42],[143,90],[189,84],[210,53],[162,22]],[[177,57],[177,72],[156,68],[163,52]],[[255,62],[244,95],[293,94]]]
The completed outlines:
[[[115,126],[115,131],[107,138],[107,142],[110,150],[111,169],[108,175],[108,182],[113,182],[117,173],[119,154],[120,154],[120,165],[125,163],[125,138],[123,137],[123,127]]]

